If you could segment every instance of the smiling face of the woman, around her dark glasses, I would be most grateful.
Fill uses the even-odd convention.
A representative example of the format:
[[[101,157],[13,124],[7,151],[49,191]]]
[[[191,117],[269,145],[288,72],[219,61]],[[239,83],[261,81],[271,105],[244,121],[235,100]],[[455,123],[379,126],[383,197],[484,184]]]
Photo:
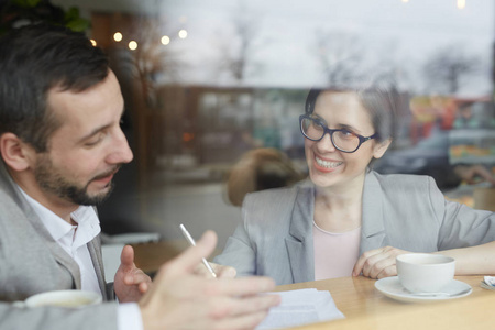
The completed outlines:
[[[346,129],[363,136],[375,133],[369,111],[355,92],[322,91],[316,101],[314,116],[322,119],[329,129]],[[388,144],[372,139],[354,153],[344,153],[333,146],[330,134],[320,141],[305,139],[309,176],[320,187],[351,184],[356,178],[364,178],[370,161],[382,157]]]

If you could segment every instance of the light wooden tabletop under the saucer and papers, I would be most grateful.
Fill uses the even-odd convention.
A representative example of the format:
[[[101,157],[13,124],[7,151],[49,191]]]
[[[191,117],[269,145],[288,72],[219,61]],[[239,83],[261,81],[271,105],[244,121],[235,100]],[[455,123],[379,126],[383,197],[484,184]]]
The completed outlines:
[[[466,297],[429,301],[400,302],[375,289],[376,279],[342,277],[277,286],[277,290],[317,288],[329,290],[345,319],[314,323],[294,329],[495,329],[495,292],[480,287],[483,276],[457,276],[470,284]]]

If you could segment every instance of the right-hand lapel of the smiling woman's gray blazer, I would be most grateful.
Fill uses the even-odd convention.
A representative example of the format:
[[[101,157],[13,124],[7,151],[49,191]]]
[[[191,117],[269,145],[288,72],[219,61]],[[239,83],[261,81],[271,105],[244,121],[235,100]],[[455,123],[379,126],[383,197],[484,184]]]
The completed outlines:
[[[360,255],[369,250],[383,246],[386,238],[382,188],[373,172],[367,173],[364,180],[362,213]]]

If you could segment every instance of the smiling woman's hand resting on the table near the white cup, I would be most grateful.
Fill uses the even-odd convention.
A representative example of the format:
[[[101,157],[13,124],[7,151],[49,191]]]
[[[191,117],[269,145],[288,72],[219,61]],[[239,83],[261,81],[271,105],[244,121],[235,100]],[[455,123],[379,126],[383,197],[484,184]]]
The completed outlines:
[[[409,253],[392,246],[370,250],[360,256],[352,271],[352,276],[363,276],[371,278],[383,278],[397,275],[395,258],[399,254]]]

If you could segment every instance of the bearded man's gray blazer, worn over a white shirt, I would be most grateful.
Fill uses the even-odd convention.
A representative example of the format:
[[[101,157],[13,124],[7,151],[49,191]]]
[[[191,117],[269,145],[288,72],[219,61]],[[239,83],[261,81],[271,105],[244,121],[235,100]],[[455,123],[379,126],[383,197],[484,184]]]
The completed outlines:
[[[88,243],[105,300],[113,299],[105,282],[99,237]],[[57,289],[80,289],[77,263],[50,232],[15,188],[0,160],[0,329],[117,329],[117,304],[77,311],[23,309],[11,302]]]

